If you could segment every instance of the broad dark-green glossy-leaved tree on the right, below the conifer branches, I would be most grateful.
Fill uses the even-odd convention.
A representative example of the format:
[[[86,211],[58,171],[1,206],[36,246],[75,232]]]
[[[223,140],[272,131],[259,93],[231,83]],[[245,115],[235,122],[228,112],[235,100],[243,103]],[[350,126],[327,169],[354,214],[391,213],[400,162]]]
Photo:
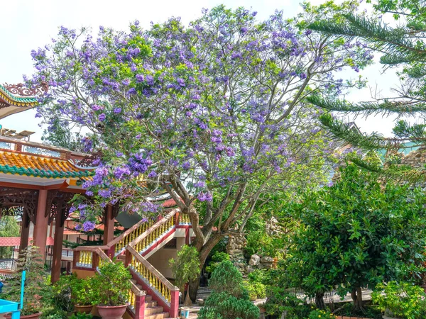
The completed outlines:
[[[425,196],[408,186],[382,186],[354,164],[332,187],[293,206],[300,223],[288,263],[293,280],[319,299],[336,289],[363,307],[361,288],[420,279],[425,259]],[[294,274],[297,274],[294,276]],[[318,298],[320,297],[320,298]]]

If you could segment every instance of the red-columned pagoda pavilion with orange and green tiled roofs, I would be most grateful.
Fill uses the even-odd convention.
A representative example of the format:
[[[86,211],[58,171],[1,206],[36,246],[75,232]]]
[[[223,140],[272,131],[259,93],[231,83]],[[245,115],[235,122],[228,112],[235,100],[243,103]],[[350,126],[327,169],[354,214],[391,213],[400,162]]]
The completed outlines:
[[[47,89],[46,85],[30,89],[23,84],[0,85],[0,119],[33,108],[38,94]],[[13,242],[9,245],[18,242],[19,251],[28,246],[30,228],[33,245],[40,247],[43,256],[46,245],[53,244],[52,281],[56,281],[60,276],[69,201],[74,194],[84,193],[81,185],[90,178],[92,169],[75,164],[88,155],[31,142],[32,133],[0,128],[0,216],[21,216],[20,239],[13,242],[9,238]],[[53,224],[52,240],[48,227]]]

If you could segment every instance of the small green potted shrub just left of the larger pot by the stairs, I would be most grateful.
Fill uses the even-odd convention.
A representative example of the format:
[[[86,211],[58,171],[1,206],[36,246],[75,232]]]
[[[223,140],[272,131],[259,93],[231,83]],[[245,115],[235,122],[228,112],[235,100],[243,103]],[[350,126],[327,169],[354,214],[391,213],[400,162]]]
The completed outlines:
[[[77,278],[75,274],[70,277],[71,301],[77,313],[90,313],[93,305],[92,279]]]

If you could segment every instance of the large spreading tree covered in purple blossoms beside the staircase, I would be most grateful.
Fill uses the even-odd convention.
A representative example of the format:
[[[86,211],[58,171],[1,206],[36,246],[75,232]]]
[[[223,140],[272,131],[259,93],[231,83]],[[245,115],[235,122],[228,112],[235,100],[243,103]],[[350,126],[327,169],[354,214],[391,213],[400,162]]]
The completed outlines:
[[[90,203],[75,202],[82,223],[117,201],[160,213],[150,200],[165,191],[190,217],[202,267],[219,240],[244,230],[264,194],[324,183],[332,150],[320,109],[304,99],[362,85],[337,72],[365,67],[371,54],[304,26],[354,9],[329,2],[257,21],[256,12],[217,6],[187,27],[171,18],[142,30],[136,21],[127,33],[101,27],[97,38],[60,28],[33,51],[28,85],[50,84],[38,107],[46,123],[89,132],[82,142],[98,167],[84,184]]]

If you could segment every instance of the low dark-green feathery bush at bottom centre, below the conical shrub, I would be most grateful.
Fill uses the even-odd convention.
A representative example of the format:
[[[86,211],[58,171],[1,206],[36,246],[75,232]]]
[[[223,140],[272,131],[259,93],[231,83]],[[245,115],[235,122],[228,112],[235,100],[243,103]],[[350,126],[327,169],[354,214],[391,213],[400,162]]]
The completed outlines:
[[[259,308],[247,299],[213,292],[198,313],[199,319],[258,319]]]

